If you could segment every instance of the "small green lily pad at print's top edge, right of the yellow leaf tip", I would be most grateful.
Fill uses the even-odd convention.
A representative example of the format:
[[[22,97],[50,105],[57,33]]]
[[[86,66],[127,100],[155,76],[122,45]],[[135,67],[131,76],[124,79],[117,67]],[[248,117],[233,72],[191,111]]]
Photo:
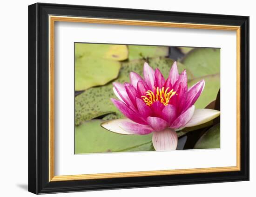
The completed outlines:
[[[129,60],[168,56],[168,46],[128,45]]]

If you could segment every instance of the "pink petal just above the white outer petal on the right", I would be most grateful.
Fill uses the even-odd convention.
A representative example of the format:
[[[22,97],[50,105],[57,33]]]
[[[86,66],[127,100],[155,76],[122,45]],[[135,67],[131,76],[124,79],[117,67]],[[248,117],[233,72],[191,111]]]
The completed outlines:
[[[178,116],[178,118],[175,119],[175,121],[171,125],[171,128],[180,128],[186,125],[192,118],[194,112],[195,106],[192,105],[190,108],[187,109],[187,111],[183,112],[181,115]]]

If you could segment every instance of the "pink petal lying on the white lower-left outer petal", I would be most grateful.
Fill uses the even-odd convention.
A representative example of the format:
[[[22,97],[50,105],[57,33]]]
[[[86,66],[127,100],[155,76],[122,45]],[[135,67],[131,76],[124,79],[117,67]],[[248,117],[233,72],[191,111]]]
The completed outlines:
[[[123,121],[119,124],[121,129],[125,130],[128,133],[146,135],[148,133],[152,133],[153,129],[148,125],[141,125],[137,123]]]

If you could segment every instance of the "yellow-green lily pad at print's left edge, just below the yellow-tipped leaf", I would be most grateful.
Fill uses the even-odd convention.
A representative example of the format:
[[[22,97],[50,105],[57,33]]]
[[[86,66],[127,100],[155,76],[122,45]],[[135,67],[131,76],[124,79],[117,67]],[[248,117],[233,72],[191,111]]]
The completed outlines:
[[[81,57],[75,61],[75,90],[105,85],[118,76],[120,62],[94,57]]]

